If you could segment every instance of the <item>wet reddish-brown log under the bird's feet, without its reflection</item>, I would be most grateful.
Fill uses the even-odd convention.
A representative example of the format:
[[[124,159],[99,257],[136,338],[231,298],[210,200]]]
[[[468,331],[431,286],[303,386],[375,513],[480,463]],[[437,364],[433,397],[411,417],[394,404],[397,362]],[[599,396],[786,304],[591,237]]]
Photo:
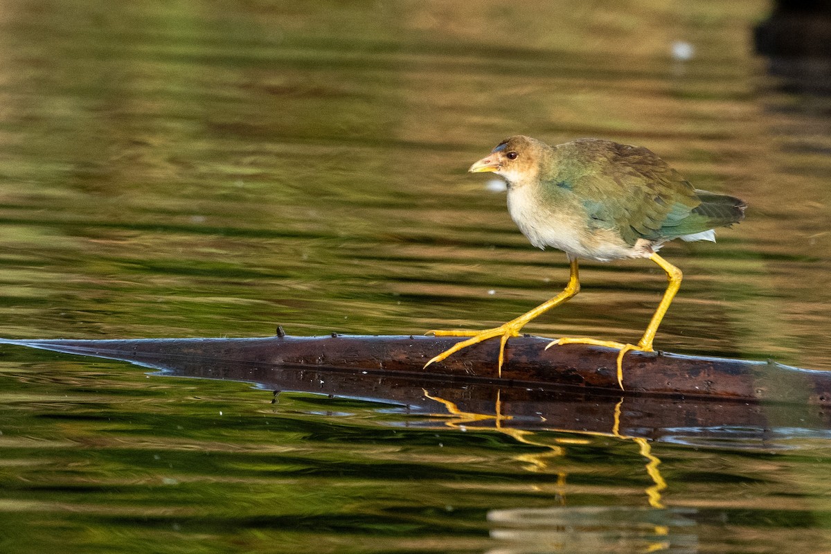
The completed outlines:
[[[71,354],[94,355],[158,367],[161,358],[234,361],[353,375],[415,378],[428,383],[494,384],[507,388],[558,388],[593,395],[659,396],[669,399],[774,401],[831,406],[831,372],[800,370],[770,362],[628,352],[623,385],[617,384],[617,351],[564,345],[548,351],[548,339],[520,336],[505,349],[501,375],[499,341],[485,341],[424,368],[426,360],[458,337],[273,336],[249,339],[0,340]]]

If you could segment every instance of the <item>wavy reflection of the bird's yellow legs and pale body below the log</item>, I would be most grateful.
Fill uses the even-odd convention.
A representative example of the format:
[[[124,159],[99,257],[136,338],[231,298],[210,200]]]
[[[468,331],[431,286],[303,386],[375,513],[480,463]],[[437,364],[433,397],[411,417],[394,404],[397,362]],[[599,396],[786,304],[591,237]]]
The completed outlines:
[[[531,429],[518,429],[508,423],[512,416],[504,414],[501,391],[497,391],[492,414],[481,414],[461,409],[458,404],[424,390],[425,398],[441,404],[449,417],[444,424],[455,429],[470,426],[482,427],[490,423],[499,433],[507,434],[519,443],[542,447],[541,453],[523,453],[514,459],[534,473],[556,473],[557,481],[549,491],[552,507],[514,508],[491,510],[488,521],[491,536],[500,541],[510,542],[514,548],[508,552],[539,552],[540,548],[563,552],[609,552],[612,547],[623,545],[632,552],[660,552],[670,548],[673,552],[696,552],[697,537],[690,532],[695,521],[685,517],[694,510],[667,509],[661,494],[667,488],[661,475],[661,459],[652,451],[652,443],[644,437],[627,436],[620,432],[621,413],[624,399],[621,398],[612,409],[612,426],[608,432],[549,428],[547,431],[567,432],[568,436],[547,442],[542,433]],[[644,470],[652,484],[644,488],[646,505],[641,507],[578,506],[567,502],[568,473],[558,464],[569,445],[585,445],[590,441],[581,435],[606,436],[631,441],[637,444],[639,453],[646,460]],[[544,492],[544,491],[538,491]],[[685,532],[676,531],[684,527]],[[506,552],[499,549],[494,552]]]

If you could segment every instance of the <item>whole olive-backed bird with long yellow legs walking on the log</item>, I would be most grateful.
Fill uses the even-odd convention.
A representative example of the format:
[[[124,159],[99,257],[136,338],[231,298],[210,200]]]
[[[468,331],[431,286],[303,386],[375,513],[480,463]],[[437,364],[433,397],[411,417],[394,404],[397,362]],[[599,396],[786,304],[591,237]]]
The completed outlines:
[[[557,248],[569,262],[568,284],[557,296],[501,326],[484,331],[428,331],[434,336],[469,336],[433,357],[425,368],[469,346],[500,337],[502,375],[509,338],[543,312],[580,291],[578,260],[612,262],[646,258],[666,272],[661,302],[637,344],[588,337],[561,337],[550,346],[586,344],[617,349],[617,383],[623,389],[623,356],[652,352],[658,326],[681,287],[678,267],[658,255],[664,243],[715,242],[715,228],[745,217],[744,200],[693,187],[652,150],[612,140],[586,138],[562,145],[516,135],[503,140],[470,173],[492,172],[508,185],[508,210],[519,230],[537,248]]]

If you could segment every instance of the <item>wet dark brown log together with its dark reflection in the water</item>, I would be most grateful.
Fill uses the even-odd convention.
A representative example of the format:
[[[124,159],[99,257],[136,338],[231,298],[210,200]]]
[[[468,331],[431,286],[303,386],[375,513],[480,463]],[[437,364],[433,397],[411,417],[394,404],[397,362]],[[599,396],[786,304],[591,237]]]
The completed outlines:
[[[269,390],[376,400],[423,414],[418,425],[562,430],[685,441],[828,437],[831,373],[670,354],[617,353],[547,340],[509,341],[502,376],[495,341],[423,368],[455,338],[275,336],[253,339],[8,341],[125,360],[165,375],[256,383]],[[818,405],[819,404],[819,405]],[[429,415],[428,415],[429,414]],[[424,419],[434,416],[437,419]],[[702,444],[702,443],[698,443]]]

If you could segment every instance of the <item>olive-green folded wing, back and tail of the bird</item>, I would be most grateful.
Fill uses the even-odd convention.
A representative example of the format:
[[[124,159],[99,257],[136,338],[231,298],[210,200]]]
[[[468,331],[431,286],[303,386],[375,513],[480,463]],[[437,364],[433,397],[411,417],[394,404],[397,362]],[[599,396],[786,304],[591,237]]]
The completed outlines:
[[[555,180],[583,204],[588,224],[638,238],[671,240],[739,221],[745,204],[696,190],[646,148],[607,140],[576,140],[563,151]],[[564,186],[567,185],[567,186]]]

